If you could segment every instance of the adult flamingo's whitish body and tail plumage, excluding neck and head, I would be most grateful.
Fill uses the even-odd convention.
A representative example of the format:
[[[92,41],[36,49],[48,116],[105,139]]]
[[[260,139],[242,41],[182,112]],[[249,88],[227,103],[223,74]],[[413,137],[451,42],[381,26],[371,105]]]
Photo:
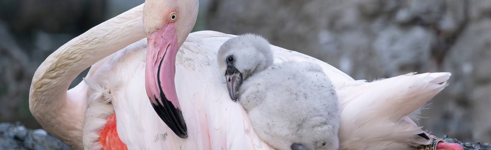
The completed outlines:
[[[159,119],[146,98],[141,78],[144,74],[145,49],[136,48],[128,53],[118,51],[100,61],[121,57],[112,65],[110,72],[100,73],[114,78],[108,85],[119,83],[115,89],[106,91],[111,91],[112,106],[116,114],[119,114],[116,115],[118,133],[128,148],[271,149],[253,132],[240,104],[230,100],[225,78],[220,75],[216,62],[217,51],[231,37],[234,35],[215,31],[194,32],[179,50],[175,81],[183,114],[189,125],[190,136],[187,139],[175,136]],[[440,83],[448,79],[449,73],[408,74],[366,82],[353,80],[336,68],[310,56],[275,46],[271,48],[274,63],[314,63],[321,66],[325,75],[332,80],[342,111],[340,149],[404,149],[430,142],[415,135],[422,133],[422,130],[406,116],[441,91],[446,84]],[[94,72],[93,69],[98,68],[96,65],[91,68],[89,75]],[[98,81],[103,82],[109,81]],[[86,85],[81,83],[79,86]],[[400,111],[404,106],[408,110]],[[402,119],[397,121],[398,118]],[[376,129],[379,130],[374,132]]]

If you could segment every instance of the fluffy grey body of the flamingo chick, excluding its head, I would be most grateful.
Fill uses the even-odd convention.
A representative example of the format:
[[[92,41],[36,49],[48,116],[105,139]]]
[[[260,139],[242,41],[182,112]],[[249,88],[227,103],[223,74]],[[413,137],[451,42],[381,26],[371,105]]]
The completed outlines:
[[[339,102],[316,64],[273,64],[244,80],[238,101],[258,136],[279,150],[290,150],[292,144],[310,150],[339,147]]]

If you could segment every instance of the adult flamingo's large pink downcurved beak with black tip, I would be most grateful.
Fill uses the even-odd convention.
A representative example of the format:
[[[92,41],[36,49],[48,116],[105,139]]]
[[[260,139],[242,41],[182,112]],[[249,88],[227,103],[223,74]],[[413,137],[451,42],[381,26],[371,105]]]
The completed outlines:
[[[145,88],[155,112],[180,138],[188,137],[174,77],[179,50],[173,23],[147,36]]]

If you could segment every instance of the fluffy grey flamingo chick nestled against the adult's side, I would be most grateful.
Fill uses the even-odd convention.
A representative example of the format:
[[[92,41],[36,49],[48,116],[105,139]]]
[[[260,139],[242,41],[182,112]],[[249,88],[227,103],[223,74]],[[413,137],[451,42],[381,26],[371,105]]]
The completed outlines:
[[[270,44],[254,34],[223,43],[217,59],[230,98],[266,143],[279,150],[338,149],[339,102],[319,65],[273,64]]]

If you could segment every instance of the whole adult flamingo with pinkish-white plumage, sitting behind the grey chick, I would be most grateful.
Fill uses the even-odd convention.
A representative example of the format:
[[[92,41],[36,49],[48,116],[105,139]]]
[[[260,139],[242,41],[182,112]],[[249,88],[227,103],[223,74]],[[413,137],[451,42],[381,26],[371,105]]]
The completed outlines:
[[[29,94],[29,108],[38,122],[74,149],[271,149],[250,128],[240,105],[229,100],[218,75],[216,51],[233,35],[202,31],[188,37],[197,0],[145,3],[72,39],[41,64]],[[145,35],[148,49],[145,40],[137,42]],[[275,61],[321,64],[334,81],[344,108],[341,148],[429,144],[417,136],[426,134],[407,116],[442,90],[445,84],[438,83],[449,74],[367,83],[298,52],[273,50]],[[89,66],[85,82],[66,91]],[[380,132],[368,134],[373,129]]]

